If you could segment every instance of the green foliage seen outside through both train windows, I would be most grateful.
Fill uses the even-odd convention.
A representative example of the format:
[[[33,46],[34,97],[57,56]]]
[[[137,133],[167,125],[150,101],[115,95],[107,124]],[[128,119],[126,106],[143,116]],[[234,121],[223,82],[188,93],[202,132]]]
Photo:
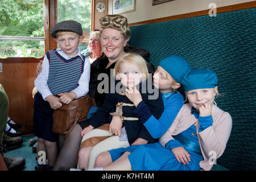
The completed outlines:
[[[44,37],[43,0],[1,0],[0,36]],[[76,20],[90,32],[91,0],[59,0],[58,22]],[[80,47],[86,48],[87,44]],[[20,56],[20,55],[21,56]],[[0,57],[42,57],[44,42],[0,40]]]

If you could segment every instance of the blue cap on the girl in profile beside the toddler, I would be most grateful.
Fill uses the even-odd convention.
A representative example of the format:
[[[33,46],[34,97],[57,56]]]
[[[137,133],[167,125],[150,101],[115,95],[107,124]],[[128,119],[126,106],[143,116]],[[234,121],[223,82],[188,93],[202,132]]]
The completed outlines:
[[[190,64],[182,56],[172,55],[166,57],[159,63],[160,67],[166,70],[172,78],[178,83],[181,83],[185,73],[191,70]]]

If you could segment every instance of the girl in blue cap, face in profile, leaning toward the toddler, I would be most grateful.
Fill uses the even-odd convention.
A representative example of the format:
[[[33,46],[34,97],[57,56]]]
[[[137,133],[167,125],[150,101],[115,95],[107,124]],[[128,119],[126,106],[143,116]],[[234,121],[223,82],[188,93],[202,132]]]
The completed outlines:
[[[133,112],[137,114],[140,122],[146,127],[148,133],[150,133],[153,138],[159,138],[167,131],[167,129],[174,121],[176,115],[179,113],[179,110],[183,106],[183,96],[180,93],[176,92],[176,90],[180,87],[183,76],[190,70],[191,66],[189,65],[188,61],[181,56],[172,55],[160,61],[158,69],[153,76],[153,84],[156,88],[159,89],[159,92],[162,94],[164,102],[164,111],[159,119],[156,119],[154,115],[151,114],[147,105],[144,104],[144,102],[142,101],[141,94],[136,94],[138,93],[136,88],[129,88],[128,90],[126,90],[127,98],[129,98],[129,100],[131,100],[137,107],[136,109],[134,109]],[[128,152],[129,154],[130,152],[131,154],[133,154],[136,151],[140,151],[141,149],[139,148],[141,148],[141,146],[163,148],[160,143],[157,142],[110,150],[98,156],[96,160],[96,167],[107,166],[108,164],[110,164],[108,168],[109,170],[118,169],[115,167],[120,167],[119,170],[130,169],[130,162],[127,158],[127,154]],[[157,153],[155,154],[158,155]],[[141,158],[138,160],[142,160],[142,162],[148,163],[148,160],[143,160],[143,157],[141,155],[133,156],[134,160],[137,160],[137,158]],[[102,158],[104,160],[102,160]],[[123,162],[122,159],[126,159],[127,163]],[[105,163],[102,164],[101,161],[104,161]],[[114,161],[115,163],[113,163]],[[111,163],[113,164],[113,166]],[[115,166],[114,164],[117,164],[117,166]],[[152,165],[154,166],[154,164]],[[139,166],[139,170],[144,169],[146,168],[143,168],[143,165]]]

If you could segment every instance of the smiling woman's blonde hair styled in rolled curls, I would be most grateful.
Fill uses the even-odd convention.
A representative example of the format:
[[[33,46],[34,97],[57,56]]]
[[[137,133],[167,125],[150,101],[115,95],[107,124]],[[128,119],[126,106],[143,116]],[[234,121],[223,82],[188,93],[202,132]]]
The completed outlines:
[[[123,38],[129,41],[131,37],[130,28],[128,25],[127,18],[122,15],[106,15],[100,18],[100,38],[104,28],[114,28],[115,30],[121,31]]]

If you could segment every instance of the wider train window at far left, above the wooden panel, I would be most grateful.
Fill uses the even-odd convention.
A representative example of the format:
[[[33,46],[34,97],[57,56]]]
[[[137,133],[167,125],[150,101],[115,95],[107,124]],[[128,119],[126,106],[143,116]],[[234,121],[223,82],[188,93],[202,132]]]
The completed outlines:
[[[0,1],[0,58],[44,55],[44,0]]]

